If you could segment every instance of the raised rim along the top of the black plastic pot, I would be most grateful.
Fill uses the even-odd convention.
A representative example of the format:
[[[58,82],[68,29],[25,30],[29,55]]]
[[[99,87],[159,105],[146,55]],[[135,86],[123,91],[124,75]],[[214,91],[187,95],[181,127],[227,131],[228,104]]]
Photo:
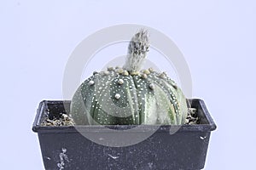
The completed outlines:
[[[78,130],[76,128],[79,128],[79,131],[88,132],[88,133],[104,133],[107,132],[107,130],[104,130],[102,127],[108,127],[113,130],[128,130],[133,127],[140,126],[139,129],[137,129],[137,133],[149,133],[152,131],[155,131],[156,128],[158,132],[160,133],[169,133],[170,128],[177,129],[177,133],[181,132],[209,132],[213,131],[217,128],[215,122],[212,119],[212,116],[210,115],[209,111],[207,111],[207,106],[205,102],[202,99],[189,99],[189,102],[191,103],[192,107],[195,105],[195,103],[198,103],[198,106],[201,109],[201,114],[199,114],[199,117],[203,117],[205,119],[204,124],[184,124],[184,125],[79,125],[79,126],[41,126],[41,122],[43,120],[43,117],[45,116],[45,109],[47,105],[50,104],[63,104],[63,105],[69,105],[70,100],[43,100],[40,102],[38,106],[37,115],[35,117],[35,120],[32,125],[32,131],[35,133],[78,133]]]

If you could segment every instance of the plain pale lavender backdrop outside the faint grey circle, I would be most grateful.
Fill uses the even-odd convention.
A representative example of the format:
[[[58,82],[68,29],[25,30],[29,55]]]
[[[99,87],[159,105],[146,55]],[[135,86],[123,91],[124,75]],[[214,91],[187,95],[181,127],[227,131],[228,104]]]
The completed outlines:
[[[44,169],[32,122],[43,99],[62,99],[67,59],[85,37],[135,23],[162,31],[189,63],[193,98],[218,129],[206,170],[255,167],[256,3],[236,0],[1,1],[1,169]]]

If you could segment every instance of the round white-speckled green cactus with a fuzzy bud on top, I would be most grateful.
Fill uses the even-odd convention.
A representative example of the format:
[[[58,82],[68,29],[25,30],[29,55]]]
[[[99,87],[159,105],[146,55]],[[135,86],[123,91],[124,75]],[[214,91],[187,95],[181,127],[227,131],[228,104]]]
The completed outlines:
[[[94,72],[73,95],[70,116],[76,125],[182,125],[188,114],[181,88],[152,68],[141,70],[148,32],[131,38],[125,65]]]

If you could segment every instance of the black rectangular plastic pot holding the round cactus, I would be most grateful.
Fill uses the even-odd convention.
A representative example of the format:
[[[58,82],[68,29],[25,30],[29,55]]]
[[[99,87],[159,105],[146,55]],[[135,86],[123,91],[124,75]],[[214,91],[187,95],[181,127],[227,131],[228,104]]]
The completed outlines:
[[[44,127],[44,116],[68,114],[70,101],[42,101],[32,130],[38,133],[45,169],[202,169],[205,165],[211,131],[216,129],[206,105],[201,99],[190,100],[197,109],[200,124],[183,125],[170,134],[175,126],[160,126],[148,139],[126,147],[96,144],[85,138],[75,127]],[[67,111],[65,110],[67,109]],[[148,133],[153,126],[143,126],[137,135]],[[131,126],[108,126],[116,131]],[[86,133],[106,136],[99,126],[82,126]]]

